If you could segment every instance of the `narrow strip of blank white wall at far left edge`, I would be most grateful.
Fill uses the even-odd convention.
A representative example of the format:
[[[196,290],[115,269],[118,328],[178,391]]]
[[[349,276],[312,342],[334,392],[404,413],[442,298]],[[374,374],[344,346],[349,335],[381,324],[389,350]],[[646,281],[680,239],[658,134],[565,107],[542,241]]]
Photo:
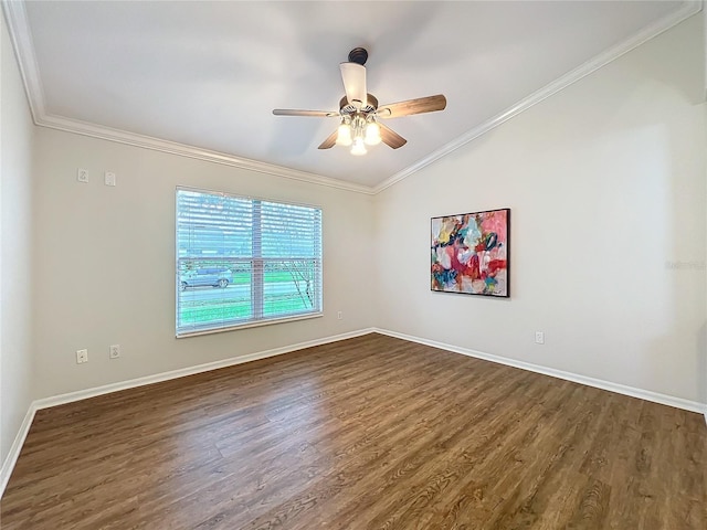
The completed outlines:
[[[6,470],[6,458],[33,399],[30,271],[34,125],[4,18],[0,19],[0,463]]]

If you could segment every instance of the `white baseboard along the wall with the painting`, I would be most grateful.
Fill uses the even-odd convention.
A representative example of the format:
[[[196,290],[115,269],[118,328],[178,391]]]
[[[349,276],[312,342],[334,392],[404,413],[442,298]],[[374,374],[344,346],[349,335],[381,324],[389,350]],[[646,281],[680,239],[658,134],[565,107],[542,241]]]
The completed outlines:
[[[652,392],[650,390],[636,389],[634,386],[626,386],[624,384],[613,383],[611,381],[604,381],[602,379],[588,378],[578,373],[564,372],[562,370],[556,370],[553,368],[541,367],[539,364],[531,364],[529,362],[518,361],[506,357],[494,356],[492,353],[485,353],[478,350],[472,350],[468,348],[462,348],[458,346],[446,344],[444,342],[437,342],[436,340],[423,339],[420,337],[413,337],[411,335],[399,333],[397,331],[390,331],[387,329],[376,328],[377,333],[387,335],[397,339],[408,340],[410,342],[418,342],[420,344],[431,346],[433,348],[440,348],[442,350],[452,351],[454,353],[461,353],[467,357],[474,357],[476,359],[483,359],[485,361],[495,362],[498,364],[505,364],[507,367],[519,368],[521,370],[528,370],[530,372],[541,373],[544,375],[550,375],[552,378],[562,379],[566,381],[572,381],[574,383],[585,384],[587,386],[593,386],[595,389],[608,390],[618,394],[630,395],[632,398],[639,398],[640,400],[652,401],[654,403],[661,403],[662,405],[674,406],[676,409],[683,409],[690,412],[698,412],[705,414],[707,420],[707,403],[698,403],[696,401],[685,400],[683,398],[675,398],[673,395],[661,394],[658,392]]]

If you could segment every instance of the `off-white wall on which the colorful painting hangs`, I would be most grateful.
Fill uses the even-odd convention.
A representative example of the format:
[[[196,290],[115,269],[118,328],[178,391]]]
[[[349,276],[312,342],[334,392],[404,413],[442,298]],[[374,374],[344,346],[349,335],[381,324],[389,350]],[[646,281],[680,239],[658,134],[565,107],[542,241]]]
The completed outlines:
[[[377,195],[377,325],[706,403],[701,32],[693,17]],[[504,206],[510,299],[431,293],[430,218]]]

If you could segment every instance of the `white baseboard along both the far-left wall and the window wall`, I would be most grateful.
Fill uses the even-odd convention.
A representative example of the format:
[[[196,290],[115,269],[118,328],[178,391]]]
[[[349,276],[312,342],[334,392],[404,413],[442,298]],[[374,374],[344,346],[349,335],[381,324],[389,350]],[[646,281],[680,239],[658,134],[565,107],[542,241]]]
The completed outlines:
[[[273,348],[271,350],[249,353],[242,357],[233,357],[230,359],[223,359],[221,361],[208,362],[205,364],[198,364],[196,367],[182,368],[169,372],[147,375],[145,378],[131,379],[129,381],[122,381],[119,383],[105,384],[93,389],[80,390],[77,392],[68,392],[66,394],[35,400],[30,404],[30,409],[24,416],[24,421],[20,426],[20,431],[18,432],[14,442],[12,443],[12,447],[10,447],[10,452],[2,463],[2,468],[0,469],[0,498],[2,498],[2,495],[4,494],[4,488],[7,487],[8,481],[10,480],[10,475],[12,475],[14,465],[18,462],[18,457],[20,456],[20,452],[22,451],[22,445],[24,444],[24,439],[27,438],[27,435],[30,432],[30,426],[32,425],[32,421],[34,420],[34,414],[41,409],[49,409],[51,406],[63,405],[65,403],[72,403],[74,401],[81,401],[88,398],[109,394],[112,392],[118,392],[120,390],[135,389],[138,386],[145,386],[146,384],[159,383],[161,381],[169,381],[172,379],[183,378],[186,375],[209,372],[211,370],[233,367],[235,364],[242,364],[260,359],[267,359],[270,357],[282,356],[283,353],[304,350],[305,348],[312,348],[315,346],[328,344],[330,342],[337,342],[339,340],[352,339],[355,337],[360,337],[362,335],[372,332],[374,332],[373,328],[359,329],[356,331],[349,331],[347,333],[334,335],[321,339],[308,340],[306,342],[284,346],[282,348]]]

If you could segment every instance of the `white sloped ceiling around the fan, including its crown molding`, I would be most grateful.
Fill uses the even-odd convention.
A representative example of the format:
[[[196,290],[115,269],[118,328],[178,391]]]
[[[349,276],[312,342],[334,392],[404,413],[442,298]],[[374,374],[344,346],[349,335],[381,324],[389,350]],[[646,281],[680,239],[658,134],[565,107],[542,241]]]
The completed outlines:
[[[167,150],[217,151],[222,155],[205,158],[376,188],[653,36],[695,6],[31,1],[8,2],[6,10],[41,125],[162,149],[168,144],[158,140],[168,140],[181,146]],[[369,51],[368,92],[381,104],[446,95],[444,112],[386,121],[408,139],[401,149],[380,145],[365,157],[341,147],[318,150],[336,118],[272,114],[276,107],[337,110],[344,95],[338,64],[356,46]]]

